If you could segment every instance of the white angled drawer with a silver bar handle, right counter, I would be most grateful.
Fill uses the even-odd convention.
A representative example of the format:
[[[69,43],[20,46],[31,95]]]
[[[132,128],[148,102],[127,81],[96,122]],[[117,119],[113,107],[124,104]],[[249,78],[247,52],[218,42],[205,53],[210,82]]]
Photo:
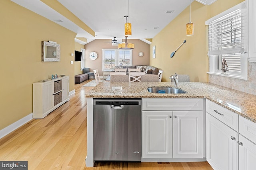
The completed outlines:
[[[210,100],[206,100],[206,112],[210,113],[235,131],[238,131],[238,114]]]

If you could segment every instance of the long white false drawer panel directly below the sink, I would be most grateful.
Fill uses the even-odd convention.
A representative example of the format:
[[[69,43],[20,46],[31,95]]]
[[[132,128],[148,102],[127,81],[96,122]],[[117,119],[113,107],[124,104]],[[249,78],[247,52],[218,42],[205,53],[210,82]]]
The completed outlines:
[[[142,110],[202,111],[202,98],[143,98]]]

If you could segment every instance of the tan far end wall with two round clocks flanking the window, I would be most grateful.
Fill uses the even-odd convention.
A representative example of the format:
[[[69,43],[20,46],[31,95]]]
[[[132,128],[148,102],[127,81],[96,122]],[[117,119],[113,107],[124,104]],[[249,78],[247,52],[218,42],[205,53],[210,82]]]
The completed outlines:
[[[98,69],[100,76],[102,76],[102,49],[118,49],[118,46],[112,46],[111,41],[111,39],[96,39],[84,45],[84,49],[86,49],[85,66],[90,68],[90,72],[93,72],[94,69]],[[122,41],[124,41],[124,39]],[[128,43],[134,43],[132,65],[149,65],[149,44],[139,39],[128,39]],[[89,58],[89,54],[92,51],[98,54],[96,60]],[[144,53],[143,57],[138,56],[139,51]]]

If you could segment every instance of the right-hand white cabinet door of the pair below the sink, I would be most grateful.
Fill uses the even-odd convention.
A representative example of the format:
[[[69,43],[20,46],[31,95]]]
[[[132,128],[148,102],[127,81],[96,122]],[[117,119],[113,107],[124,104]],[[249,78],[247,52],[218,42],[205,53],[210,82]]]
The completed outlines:
[[[173,158],[203,158],[203,111],[173,112]]]

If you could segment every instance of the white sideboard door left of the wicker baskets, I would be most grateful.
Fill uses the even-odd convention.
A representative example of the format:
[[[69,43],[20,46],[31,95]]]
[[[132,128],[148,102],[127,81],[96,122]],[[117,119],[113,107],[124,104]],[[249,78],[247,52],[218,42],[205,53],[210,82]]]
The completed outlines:
[[[42,113],[54,107],[54,83],[44,84],[42,86]]]

